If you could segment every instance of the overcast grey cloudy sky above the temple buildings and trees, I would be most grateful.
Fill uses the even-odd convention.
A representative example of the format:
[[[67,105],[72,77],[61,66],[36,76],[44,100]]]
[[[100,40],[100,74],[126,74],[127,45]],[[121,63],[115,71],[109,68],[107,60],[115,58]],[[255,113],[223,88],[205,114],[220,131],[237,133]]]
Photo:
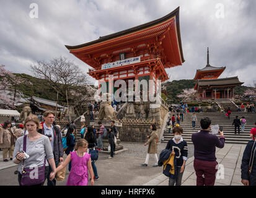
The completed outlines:
[[[32,3],[38,5],[38,19],[30,17]],[[64,45],[159,19],[179,6],[185,62],[167,69],[170,80],[193,79],[196,69],[205,67],[209,47],[211,66],[226,66],[220,77],[238,75],[244,85],[253,85],[255,0],[0,0],[0,64],[31,75],[35,61],[66,56],[87,72],[89,66]]]

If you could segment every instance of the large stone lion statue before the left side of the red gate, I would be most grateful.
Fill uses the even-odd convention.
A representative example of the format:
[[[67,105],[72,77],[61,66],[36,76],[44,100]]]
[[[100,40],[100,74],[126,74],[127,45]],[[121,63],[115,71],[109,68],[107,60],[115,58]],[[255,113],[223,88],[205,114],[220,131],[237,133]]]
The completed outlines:
[[[102,101],[100,103],[99,120],[110,121],[117,118],[117,111],[111,106],[111,101]]]

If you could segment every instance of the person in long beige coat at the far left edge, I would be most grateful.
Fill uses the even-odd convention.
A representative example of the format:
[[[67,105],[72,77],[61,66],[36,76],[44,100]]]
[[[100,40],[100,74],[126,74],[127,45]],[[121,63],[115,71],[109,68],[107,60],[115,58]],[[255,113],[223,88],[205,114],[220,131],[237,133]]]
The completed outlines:
[[[11,122],[6,121],[0,131],[0,148],[2,149],[2,158],[4,159],[4,161],[8,161],[8,152],[10,160],[12,160],[13,158],[15,136],[11,126]]]

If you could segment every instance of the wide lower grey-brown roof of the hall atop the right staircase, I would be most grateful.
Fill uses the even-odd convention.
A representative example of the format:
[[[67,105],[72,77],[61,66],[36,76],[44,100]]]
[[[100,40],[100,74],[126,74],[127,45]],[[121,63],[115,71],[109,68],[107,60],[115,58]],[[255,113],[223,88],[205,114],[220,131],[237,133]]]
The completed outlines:
[[[242,85],[244,82],[240,82],[238,77],[229,77],[223,79],[198,79],[196,81],[195,89],[197,87],[211,87],[211,86],[223,86],[223,85]]]

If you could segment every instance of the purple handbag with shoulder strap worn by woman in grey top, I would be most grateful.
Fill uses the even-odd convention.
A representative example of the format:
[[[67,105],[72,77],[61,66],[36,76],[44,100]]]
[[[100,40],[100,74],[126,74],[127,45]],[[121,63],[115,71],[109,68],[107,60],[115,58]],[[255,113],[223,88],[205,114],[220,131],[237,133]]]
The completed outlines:
[[[24,136],[23,139],[23,150],[26,152],[27,147],[27,136]],[[43,166],[34,168],[24,168],[24,161],[22,163],[22,176],[20,179],[21,186],[32,186],[37,184],[42,184],[45,182],[45,163]]]

